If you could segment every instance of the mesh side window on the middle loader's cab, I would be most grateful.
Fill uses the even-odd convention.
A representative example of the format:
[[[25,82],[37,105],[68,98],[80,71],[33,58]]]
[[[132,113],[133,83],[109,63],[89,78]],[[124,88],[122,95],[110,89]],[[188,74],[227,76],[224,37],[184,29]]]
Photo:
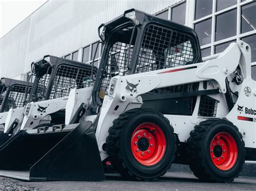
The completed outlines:
[[[84,77],[90,75],[90,68],[60,65],[53,79],[49,99],[68,96],[72,88],[80,89],[83,88],[85,84],[92,86],[93,83],[83,83]]]

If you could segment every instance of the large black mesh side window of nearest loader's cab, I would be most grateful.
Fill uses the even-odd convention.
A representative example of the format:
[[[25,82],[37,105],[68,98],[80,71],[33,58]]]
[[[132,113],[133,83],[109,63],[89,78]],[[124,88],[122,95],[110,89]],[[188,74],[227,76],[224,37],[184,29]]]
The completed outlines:
[[[194,63],[194,45],[188,34],[151,24],[144,32],[135,73]]]

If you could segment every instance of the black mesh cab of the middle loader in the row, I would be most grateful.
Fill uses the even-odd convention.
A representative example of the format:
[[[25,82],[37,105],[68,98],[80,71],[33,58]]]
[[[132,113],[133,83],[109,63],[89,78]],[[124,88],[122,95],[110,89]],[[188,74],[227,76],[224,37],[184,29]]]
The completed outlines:
[[[30,101],[51,100],[68,96],[72,88],[93,86],[86,83],[95,76],[97,68],[85,63],[47,55],[35,65],[35,87]]]

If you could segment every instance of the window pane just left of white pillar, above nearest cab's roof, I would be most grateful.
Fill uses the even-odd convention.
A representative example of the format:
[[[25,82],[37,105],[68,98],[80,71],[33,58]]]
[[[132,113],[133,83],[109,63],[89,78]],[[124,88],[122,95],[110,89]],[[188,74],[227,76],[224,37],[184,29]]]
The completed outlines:
[[[172,8],[171,20],[173,22],[179,23],[181,25],[185,25],[185,17],[186,17],[186,3],[180,4]]]

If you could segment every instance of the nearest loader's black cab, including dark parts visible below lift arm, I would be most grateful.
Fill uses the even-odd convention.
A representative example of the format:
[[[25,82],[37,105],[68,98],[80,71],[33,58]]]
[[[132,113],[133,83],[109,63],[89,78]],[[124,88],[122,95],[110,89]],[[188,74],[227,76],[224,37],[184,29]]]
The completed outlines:
[[[102,105],[110,79],[115,75],[143,73],[202,61],[198,37],[193,29],[142,11],[127,10],[124,15],[100,25],[98,31],[105,46],[93,89],[93,111],[97,110],[95,108],[98,105]],[[197,86],[184,84],[154,90],[151,94],[191,91],[193,88]],[[170,113],[170,107],[165,107],[177,103],[176,101],[152,103],[143,99],[143,107],[158,107],[158,110]],[[191,98],[183,101],[185,102],[192,104]],[[162,110],[159,104],[163,106]],[[191,107],[183,108],[190,109],[180,112],[192,114]]]

